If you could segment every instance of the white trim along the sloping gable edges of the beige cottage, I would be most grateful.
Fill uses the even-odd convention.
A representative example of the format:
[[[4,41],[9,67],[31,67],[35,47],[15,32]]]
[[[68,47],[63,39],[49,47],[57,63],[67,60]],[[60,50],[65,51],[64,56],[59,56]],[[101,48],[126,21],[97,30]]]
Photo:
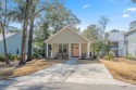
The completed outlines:
[[[70,29],[71,31],[73,31],[74,34],[78,35],[79,37],[82,37],[83,39],[87,40],[89,42],[89,39],[83,37],[82,35],[77,34],[76,31],[74,31],[72,28],[70,28],[69,26],[62,28],[60,31],[55,33],[52,37],[50,37],[49,39],[47,39],[46,41],[44,42],[48,42],[50,39],[54,38],[57,35],[59,35],[61,31],[63,31],[64,29]]]

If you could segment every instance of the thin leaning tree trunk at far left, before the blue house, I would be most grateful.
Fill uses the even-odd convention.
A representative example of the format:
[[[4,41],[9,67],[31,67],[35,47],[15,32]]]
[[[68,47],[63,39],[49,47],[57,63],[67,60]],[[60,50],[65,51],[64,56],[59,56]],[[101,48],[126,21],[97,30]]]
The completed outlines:
[[[5,33],[2,22],[0,22],[1,28],[2,28],[2,35],[3,35],[3,46],[4,46],[4,55],[5,55],[5,64],[10,64],[8,53],[7,53],[7,40],[5,40]]]

